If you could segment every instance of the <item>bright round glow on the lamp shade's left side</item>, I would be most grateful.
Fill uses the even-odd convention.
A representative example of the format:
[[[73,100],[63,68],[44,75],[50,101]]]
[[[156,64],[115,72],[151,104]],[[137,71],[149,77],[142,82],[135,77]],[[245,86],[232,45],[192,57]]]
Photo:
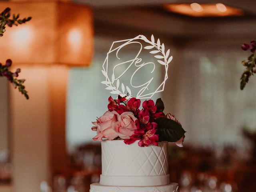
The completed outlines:
[[[34,39],[34,31],[31,27],[20,26],[12,31],[12,45],[17,49],[27,48]]]

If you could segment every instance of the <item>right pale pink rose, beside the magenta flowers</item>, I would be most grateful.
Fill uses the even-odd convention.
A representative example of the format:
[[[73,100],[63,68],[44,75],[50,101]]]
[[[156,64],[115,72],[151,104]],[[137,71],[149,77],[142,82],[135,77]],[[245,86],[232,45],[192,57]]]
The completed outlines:
[[[122,139],[130,139],[136,130],[135,121],[137,118],[132,112],[123,112],[117,118],[117,122],[113,124],[114,132]]]

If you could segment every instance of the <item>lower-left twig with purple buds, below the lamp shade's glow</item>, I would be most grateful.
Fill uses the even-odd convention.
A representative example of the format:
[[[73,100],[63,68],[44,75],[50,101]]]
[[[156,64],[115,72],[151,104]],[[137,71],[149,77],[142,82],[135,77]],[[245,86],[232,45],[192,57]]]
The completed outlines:
[[[6,78],[12,83],[14,88],[18,87],[19,92],[21,92],[26,99],[29,99],[28,92],[25,90],[25,86],[23,83],[25,82],[24,79],[17,79],[16,77],[19,76],[20,68],[16,69],[16,72],[11,72],[8,68],[12,65],[12,60],[6,60],[5,65],[0,63],[0,76],[6,76]]]

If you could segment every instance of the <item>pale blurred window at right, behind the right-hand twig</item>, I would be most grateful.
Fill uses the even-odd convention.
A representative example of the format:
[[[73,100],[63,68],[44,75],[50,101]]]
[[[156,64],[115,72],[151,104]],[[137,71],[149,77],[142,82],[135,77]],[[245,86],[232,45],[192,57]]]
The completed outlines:
[[[238,46],[238,48],[240,48]],[[182,102],[187,142],[244,147],[242,127],[256,131],[256,78],[240,90],[241,49],[186,49]]]

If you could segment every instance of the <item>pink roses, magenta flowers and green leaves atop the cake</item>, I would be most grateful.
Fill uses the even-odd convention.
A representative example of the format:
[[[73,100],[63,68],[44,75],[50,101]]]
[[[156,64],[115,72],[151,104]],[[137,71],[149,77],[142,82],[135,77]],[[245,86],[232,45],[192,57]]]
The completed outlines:
[[[125,144],[138,141],[140,147],[150,144],[157,146],[160,141],[175,142],[182,147],[185,131],[176,117],[164,114],[164,103],[161,98],[145,100],[140,109],[141,100],[126,99],[118,95],[117,100],[108,98],[108,111],[92,122],[97,135],[93,140],[124,140]]]

